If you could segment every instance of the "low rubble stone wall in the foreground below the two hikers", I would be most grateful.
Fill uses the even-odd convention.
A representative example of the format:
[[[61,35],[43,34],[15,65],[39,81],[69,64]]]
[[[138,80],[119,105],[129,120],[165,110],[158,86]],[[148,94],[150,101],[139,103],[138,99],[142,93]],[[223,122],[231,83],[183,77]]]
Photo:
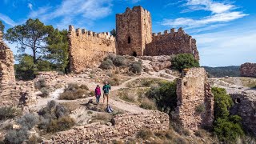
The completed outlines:
[[[140,114],[122,114],[114,118],[114,126],[98,123],[59,132],[50,143],[110,143],[137,134],[143,128],[152,131],[169,129],[168,114],[150,111]]]

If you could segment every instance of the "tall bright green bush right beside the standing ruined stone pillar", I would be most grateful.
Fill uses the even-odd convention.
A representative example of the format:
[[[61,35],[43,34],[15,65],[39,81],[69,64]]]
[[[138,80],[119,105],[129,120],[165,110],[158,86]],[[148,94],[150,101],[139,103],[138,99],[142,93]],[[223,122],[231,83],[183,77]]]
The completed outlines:
[[[232,98],[226,90],[218,87],[212,88],[214,94],[214,134],[222,142],[235,142],[244,135],[242,118],[230,115],[230,107],[234,105]]]

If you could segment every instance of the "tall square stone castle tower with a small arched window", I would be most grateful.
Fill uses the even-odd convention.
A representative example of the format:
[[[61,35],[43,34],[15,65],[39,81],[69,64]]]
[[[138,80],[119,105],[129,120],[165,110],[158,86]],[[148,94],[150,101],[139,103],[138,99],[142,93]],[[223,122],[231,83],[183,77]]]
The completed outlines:
[[[146,55],[146,44],[152,41],[150,12],[142,6],[126,8],[123,14],[116,14],[117,54]]]

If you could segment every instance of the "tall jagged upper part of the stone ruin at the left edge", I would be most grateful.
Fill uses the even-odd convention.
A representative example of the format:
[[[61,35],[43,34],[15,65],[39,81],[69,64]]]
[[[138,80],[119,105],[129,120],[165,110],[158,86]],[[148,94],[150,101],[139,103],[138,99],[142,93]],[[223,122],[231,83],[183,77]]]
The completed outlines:
[[[14,54],[2,40],[0,31],[0,85],[15,82]]]

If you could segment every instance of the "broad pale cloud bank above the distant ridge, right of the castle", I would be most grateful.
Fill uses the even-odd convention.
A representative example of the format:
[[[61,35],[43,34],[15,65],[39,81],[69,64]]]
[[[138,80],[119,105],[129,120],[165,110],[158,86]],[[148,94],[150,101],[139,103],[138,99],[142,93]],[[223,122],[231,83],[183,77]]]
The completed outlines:
[[[193,37],[197,40],[202,66],[238,66],[244,62],[256,62],[254,27],[232,28]]]

